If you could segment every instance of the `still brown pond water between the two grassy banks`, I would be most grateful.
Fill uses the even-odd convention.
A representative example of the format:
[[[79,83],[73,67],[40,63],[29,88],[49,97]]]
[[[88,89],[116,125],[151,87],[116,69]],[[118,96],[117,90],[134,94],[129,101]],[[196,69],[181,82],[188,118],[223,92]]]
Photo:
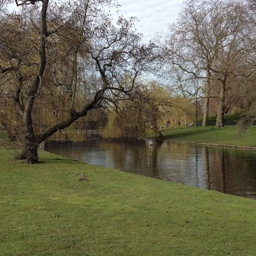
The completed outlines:
[[[256,151],[150,141],[47,142],[46,150],[206,190],[256,198]]]

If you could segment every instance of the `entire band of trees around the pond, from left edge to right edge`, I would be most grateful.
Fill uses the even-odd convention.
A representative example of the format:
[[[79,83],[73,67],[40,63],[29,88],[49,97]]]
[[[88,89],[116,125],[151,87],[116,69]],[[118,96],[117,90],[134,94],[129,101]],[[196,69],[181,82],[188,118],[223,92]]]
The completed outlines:
[[[149,43],[136,18],[114,24],[109,10],[117,7],[0,1],[1,123],[20,142],[19,158],[38,162],[40,143],[93,113],[114,113],[113,127],[127,137],[151,129],[161,138],[159,120],[175,106],[190,116],[202,111],[203,126],[209,114],[218,127],[228,113],[254,119],[254,1],[185,1],[178,20]],[[150,74],[154,82],[145,82]]]

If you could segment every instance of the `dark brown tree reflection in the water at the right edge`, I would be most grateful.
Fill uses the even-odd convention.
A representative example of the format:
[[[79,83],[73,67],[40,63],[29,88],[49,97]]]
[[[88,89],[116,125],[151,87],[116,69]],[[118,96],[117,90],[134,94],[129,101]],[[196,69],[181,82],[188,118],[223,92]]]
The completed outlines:
[[[204,158],[207,189],[256,198],[255,153],[212,147],[204,148]]]

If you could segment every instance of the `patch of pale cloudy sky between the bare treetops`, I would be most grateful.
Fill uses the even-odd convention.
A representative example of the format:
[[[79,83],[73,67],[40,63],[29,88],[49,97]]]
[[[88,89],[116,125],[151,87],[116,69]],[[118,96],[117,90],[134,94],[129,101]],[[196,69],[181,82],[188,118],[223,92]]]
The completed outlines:
[[[143,41],[154,38],[156,32],[165,32],[168,24],[175,22],[182,10],[182,0],[118,0],[122,5],[118,15],[137,17],[135,26],[144,35]]]

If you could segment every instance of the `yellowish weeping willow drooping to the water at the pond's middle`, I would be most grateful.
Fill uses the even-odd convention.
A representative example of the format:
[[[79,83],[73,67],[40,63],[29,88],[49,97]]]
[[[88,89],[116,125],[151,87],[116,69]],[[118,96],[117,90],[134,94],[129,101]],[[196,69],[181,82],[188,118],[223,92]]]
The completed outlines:
[[[154,137],[161,140],[163,119],[172,106],[172,97],[166,88],[155,82],[137,86],[126,98],[114,102],[108,123],[113,132],[106,136],[144,138],[151,130]]]

